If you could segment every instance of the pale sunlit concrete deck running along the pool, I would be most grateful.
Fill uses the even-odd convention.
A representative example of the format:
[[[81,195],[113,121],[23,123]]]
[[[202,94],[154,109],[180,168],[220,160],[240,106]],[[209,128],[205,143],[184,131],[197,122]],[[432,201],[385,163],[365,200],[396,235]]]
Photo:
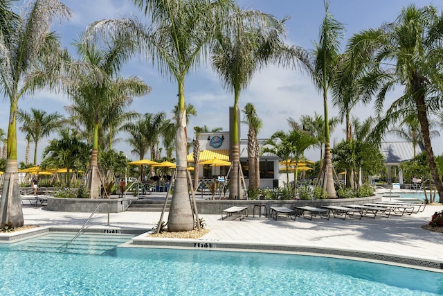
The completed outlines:
[[[201,243],[219,243],[223,245],[255,245],[257,250],[339,250],[335,253],[343,256],[346,252],[383,254],[400,256],[411,261],[432,261],[443,269],[442,243],[443,233],[430,232],[422,229],[428,224],[435,211],[442,211],[443,206],[426,206],[422,213],[393,216],[389,218],[330,218],[329,220],[313,218],[307,220],[297,217],[291,220],[279,217],[278,220],[249,216],[239,220],[232,216],[221,220],[220,215],[200,215],[206,222],[210,232],[202,236]],[[89,213],[73,213],[47,211],[44,207],[24,206],[25,225],[48,226],[51,229],[75,228],[81,225],[90,216]],[[89,229],[138,229],[146,232],[152,229],[159,221],[161,213],[147,211],[125,211],[110,214],[110,225],[107,226],[107,214],[95,214],[88,223]],[[236,217],[236,218],[235,218]],[[164,220],[168,219],[168,214]],[[139,236],[140,237],[140,236]],[[159,240],[159,238],[146,238],[141,240]],[[170,239],[172,242],[172,239]],[[165,241],[168,245],[168,240]],[[173,244],[171,244],[173,245]],[[267,247],[260,247],[267,246]],[[280,246],[273,249],[272,246]],[[281,248],[283,246],[284,248]],[[298,248],[298,249],[297,249]],[[358,256],[358,255],[357,255]],[[372,256],[377,259],[377,256]],[[381,260],[383,258],[381,257]],[[394,260],[395,261],[395,260]],[[401,263],[401,262],[400,262]],[[402,262],[404,263],[404,261]],[[412,265],[420,265],[413,263]],[[437,267],[437,269],[439,269]]]

